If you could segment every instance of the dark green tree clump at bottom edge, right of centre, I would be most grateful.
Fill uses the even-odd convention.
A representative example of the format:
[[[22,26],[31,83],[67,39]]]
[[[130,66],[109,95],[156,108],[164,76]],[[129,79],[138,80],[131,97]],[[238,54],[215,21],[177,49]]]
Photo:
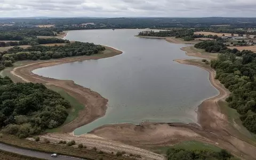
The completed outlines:
[[[230,153],[226,150],[206,151],[206,150],[185,150],[170,148],[167,150],[168,160],[203,160],[203,159],[214,159],[214,160],[235,160]]]

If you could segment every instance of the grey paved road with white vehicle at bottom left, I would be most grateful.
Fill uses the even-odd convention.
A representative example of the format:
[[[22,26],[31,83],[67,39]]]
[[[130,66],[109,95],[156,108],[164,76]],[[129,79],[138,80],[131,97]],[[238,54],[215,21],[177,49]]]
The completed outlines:
[[[75,157],[68,157],[68,156],[61,156],[61,155],[59,155],[58,157],[51,157],[51,154],[42,153],[39,151],[32,151],[32,150],[28,150],[28,149],[21,149],[21,148],[17,148],[17,147],[12,147],[12,146],[5,145],[3,143],[0,143],[0,150],[5,150],[5,151],[9,151],[11,153],[26,155],[26,156],[30,156],[30,157],[49,159],[49,160],[77,160],[77,159],[79,159],[79,158],[75,158]]]

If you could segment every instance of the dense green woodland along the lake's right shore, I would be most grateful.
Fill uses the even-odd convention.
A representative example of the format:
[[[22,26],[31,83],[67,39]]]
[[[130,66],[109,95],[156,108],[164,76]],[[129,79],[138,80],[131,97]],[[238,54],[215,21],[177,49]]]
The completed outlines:
[[[231,92],[227,102],[241,114],[243,125],[256,133],[256,54],[228,49],[219,41],[204,41],[195,47],[220,53],[218,60],[211,61],[211,67],[217,71],[215,78]]]

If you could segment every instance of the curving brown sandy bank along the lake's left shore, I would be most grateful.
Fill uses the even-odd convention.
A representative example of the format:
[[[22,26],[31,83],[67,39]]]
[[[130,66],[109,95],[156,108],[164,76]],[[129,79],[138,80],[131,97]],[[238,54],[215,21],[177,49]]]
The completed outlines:
[[[105,115],[108,100],[103,98],[99,93],[87,89],[86,87],[77,85],[73,81],[63,81],[59,79],[47,78],[33,74],[32,71],[37,68],[60,65],[62,63],[113,57],[121,53],[121,51],[115,50],[111,47],[106,47],[106,51],[103,51],[103,54],[39,62],[31,61],[25,66],[14,68],[11,71],[11,74],[19,77],[25,82],[43,83],[46,86],[54,85],[60,87],[72,97],[76,98],[78,102],[82,103],[85,106],[85,109],[79,112],[79,116],[74,121],[62,127],[62,132],[72,132],[77,127],[88,124],[95,119]]]

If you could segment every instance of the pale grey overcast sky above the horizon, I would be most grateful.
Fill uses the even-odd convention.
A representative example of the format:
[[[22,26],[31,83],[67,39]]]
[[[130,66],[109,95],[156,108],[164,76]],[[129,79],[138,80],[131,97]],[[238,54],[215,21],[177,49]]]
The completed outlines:
[[[256,0],[0,0],[0,17],[256,17]]]

